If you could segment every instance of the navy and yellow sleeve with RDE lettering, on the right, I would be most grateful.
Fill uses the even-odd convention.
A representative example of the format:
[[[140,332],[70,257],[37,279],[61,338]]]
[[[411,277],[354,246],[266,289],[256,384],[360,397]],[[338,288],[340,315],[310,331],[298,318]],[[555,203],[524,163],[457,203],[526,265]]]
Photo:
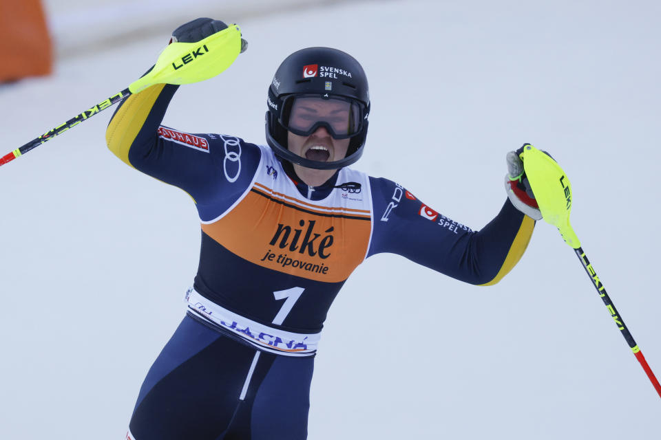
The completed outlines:
[[[452,221],[387,179],[370,177],[374,228],[369,255],[390,252],[474,285],[493,285],[518,263],[535,221],[509,199],[479,231]]]

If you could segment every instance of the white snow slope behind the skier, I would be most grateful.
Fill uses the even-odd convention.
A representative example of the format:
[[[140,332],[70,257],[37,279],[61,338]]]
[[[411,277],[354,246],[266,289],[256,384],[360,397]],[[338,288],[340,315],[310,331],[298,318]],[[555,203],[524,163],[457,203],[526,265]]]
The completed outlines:
[[[507,151],[532,142],[554,155],[571,179],[583,248],[661,375],[661,3],[319,1],[267,13],[231,1],[223,14],[198,1],[182,14],[160,1],[174,27],[127,28],[130,44],[113,45],[103,35],[121,21],[109,20],[94,28],[100,43],[81,49],[66,42],[89,27],[65,17],[85,3],[45,3],[59,61],[48,78],[0,87],[1,154],[126,87],[188,19],[238,22],[250,45],[218,78],[180,89],[164,123],[184,131],[264,142],[266,87],[280,61],[301,47],[338,47],[370,79],[370,133],[355,168],[448,217],[472,228],[492,219]],[[111,115],[0,169],[6,438],[122,439],[143,377],[185,313],[196,211],[185,192],[107,151]],[[618,333],[571,248],[543,222],[494,287],[375,256],[330,309],[309,438],[658,438],[660,399]]]

